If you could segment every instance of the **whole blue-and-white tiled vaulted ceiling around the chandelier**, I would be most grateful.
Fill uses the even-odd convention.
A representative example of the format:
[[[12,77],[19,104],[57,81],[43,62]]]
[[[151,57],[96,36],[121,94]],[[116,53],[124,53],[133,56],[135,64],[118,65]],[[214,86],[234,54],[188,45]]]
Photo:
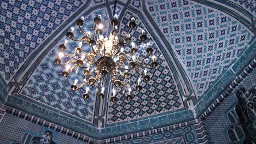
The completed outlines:
[[[135,92],[130,101],[122,97],[120,89],[116,103],[109,97],[98,99],[95,90],[90,91],[89,99],[85,100],[84,89],[72,91],[70,88],[74,79],[81,81],[83,75],[73,73],[62,77],[63,67],[56,67],[54,59],[59,45],[67,40],[66,32],[75,27],[75,21],[81,16],[85,17],[85,31],[92,31],[92,20],[101,14],[103,34],[109,33],[113,5],[114,1],[107,0],[2,1],[0,72],[3,82],[9,85],[11,96],[7,105],[36,115],[31,106],[35,104],[93,128],[129,124],[131,120],[139,123],[142,119],[167,115],[168,120],[162,121],[162,125],[189,121],[200,114],[193,113],[187,101],[192,100],[195,105],[197,100],[214,100],[216,96],[208,98],[208,91],[218,85],[227,71],[232,71],[232,65],[246,55],[248,47],[255,46],[255,1],[118,1],[120,35],[129,31],[127,22],[135,17],[137,27],[131,33],[132,39],[137,39],[142,29],[146,31],[159,67],[149,71],[151,80],[142,82],[142,91]],[[82,35],[79,29],[74,33]],[[74,46],[78,43],[69,41],[68,52],[73,51]],[[145,56],[146,43],[139,47],[136,56]],[[83,49],[89,51],[88,46]],[[129,52],[129,47],[125,47],[125,51]],[[252,60],[248,58],[246,62]],[[236,71],[233,72],[236,76]],[[133,73],[131,82],[135,83],[138,76]],[[112,95],[109,90],[112,85],[107,88],[108,95]],[[170,118],[172,115],[174,120]],[[63,125],[56,119],[45,119]],[[145,124],[134,130],[147,127],[153,126]],[[107,130],[106,135],[102,134],[109,135]]]

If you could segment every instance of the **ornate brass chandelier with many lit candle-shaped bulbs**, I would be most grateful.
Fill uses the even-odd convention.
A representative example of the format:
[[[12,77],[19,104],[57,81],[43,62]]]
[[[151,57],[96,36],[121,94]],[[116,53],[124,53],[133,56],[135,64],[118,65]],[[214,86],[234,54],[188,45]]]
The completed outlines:
[[[131,91],[140,91],[142,89],[140,78],[137,79],[135,88],[131,87],[129,82],[129,76],[131,75],[130,70],[134,69],[144,80],[148,81],[150,77],[147,69],[153,69],[158,66],[154,55],[151,56],[152,62],[150,66],[142,62],[148,59],[153,53],[150,44],[147,44],[146,57],[136,58],[135,56],[136,52],[138,52],[136,44],[141,44],[146,41],[147,35],[145,31],[142,30],[139,40],[132,41],[130,33],[136,27],[134,17],[132,17],[129,22],[128,26],[130,29],[124,37],[120,37],[118,34],[117,15],[114,15],[113,19],[110,21],[110,27],[112,26],[113,30],[109,33],[108,37],[104,38],[102,35],[103,25],[101,23],[101,15],[94,18],[94,23],[93,33],[91,34],[90,32],[85,32],[82,28],[84,25],[84,17],[77,20],[76,24],[79,27],[79,31],[83,33],[83,37],[75,39],[73,27],[67,32],[66,36],[71,41],[77,41],[79,43],[78,47],[71,47],[74,49],[74,53],[66,53],[68,41],[65,40],[65,43],[59,46],[61,52],[59,53],[59,57],[55,59],[55,63],[57,65],[66,65],[66,69],[62,71],[64,77],[71,74],[75,68],[77,68],[76,73],[78,73],[78,69],[83,70],[84,80],[82,80],[82,83],[78,86],[78,80],[75,79],[74,83],[71,85],[71,89],[77,91],[82,87],[86,87],[85,93],[83,94],[84,99],[89,97],[90,88],[95,88],[98,97],[103,99],[107,76],[110,76],[110,82],[114,85],[113,95],[110,97],[110,100],[117,100],[116,91],[118,87],[123,91],[124,97],[130,100],[132,99]],[[90,52],[83,52],[84,44],[90,46]],[[124,51],[124,46],[126,45],[131,46],[129,53],[125,53]],[[68,61],[66,60],[62,63],[61,58],[63,56],[66,56]],[[70,64],[73,65],[71,66]]]

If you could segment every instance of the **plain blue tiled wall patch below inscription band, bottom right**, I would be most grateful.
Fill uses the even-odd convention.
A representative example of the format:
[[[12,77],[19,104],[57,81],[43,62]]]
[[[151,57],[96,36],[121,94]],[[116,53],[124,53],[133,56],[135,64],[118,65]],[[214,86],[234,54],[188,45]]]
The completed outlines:
[[[229,143],[225,133],[230,124],[225,112],[235,104],[234,97],[234,94],[230,94],[205,121],[212,143]]]

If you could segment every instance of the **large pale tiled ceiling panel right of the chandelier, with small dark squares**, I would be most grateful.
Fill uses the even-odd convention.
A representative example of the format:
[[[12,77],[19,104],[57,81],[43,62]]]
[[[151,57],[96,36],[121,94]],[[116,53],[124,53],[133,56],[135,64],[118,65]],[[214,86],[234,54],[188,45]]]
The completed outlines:
[[[253,33],[233,17],[188,1],[147,1],[148,11],[181,57],[201,96]]]

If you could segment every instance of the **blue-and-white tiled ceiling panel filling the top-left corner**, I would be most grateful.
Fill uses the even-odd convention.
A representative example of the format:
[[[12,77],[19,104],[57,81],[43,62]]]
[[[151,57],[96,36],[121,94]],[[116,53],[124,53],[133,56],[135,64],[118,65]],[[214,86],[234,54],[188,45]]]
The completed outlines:
[[[0,1],[0,73],[5,81],[83,1]]]

